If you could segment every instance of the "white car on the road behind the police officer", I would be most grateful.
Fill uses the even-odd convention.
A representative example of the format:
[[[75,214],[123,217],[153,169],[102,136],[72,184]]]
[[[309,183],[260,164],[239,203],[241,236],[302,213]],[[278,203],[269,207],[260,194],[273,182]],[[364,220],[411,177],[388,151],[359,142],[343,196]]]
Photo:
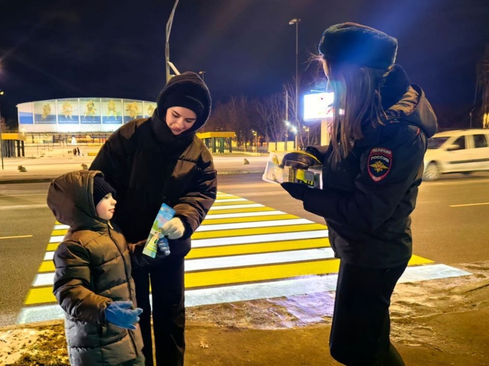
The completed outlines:
[[[481,170],[489,171],[489,129],[445,131],[428,139],[423,179]]]

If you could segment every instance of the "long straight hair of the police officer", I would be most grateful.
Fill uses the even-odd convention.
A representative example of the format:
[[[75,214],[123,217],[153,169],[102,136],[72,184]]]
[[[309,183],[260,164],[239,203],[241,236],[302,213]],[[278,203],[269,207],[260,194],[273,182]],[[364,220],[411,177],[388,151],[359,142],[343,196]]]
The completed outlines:
[[[328,90],[334,92],[333,122],[330,126],[335,161],[345,158],[355,141],[363,137],[362,125],[385,123],[380,88],[387,70],[334,63],[322,59]]]

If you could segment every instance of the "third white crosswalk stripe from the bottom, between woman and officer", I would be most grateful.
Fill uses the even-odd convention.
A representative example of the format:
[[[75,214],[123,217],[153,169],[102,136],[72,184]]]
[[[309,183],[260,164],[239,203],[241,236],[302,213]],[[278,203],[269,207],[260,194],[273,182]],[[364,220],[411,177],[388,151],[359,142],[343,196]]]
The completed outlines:
[[[210,238],[192,240],[192,248],[229,246],[233,244],[248,244],[265,241],[310,239],[328,237],[328,230],[298,231],[291,233],[234,236],[227,238]]]

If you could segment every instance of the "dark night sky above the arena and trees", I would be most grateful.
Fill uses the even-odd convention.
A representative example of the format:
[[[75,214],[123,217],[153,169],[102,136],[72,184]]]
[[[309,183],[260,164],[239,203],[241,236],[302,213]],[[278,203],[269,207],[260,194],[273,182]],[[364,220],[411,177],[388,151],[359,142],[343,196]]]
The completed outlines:
[[[165,25],[173,0],[0,5],[0,107],[11,123],[17,103],[155,100],[165,84]],[[280,92],[295,74],[295,25],[288,24],[295,17],[302,19],[300,72],[326,27],[356,21],[398,39],[397,63],[436,110],[468,113],[476,63],[489,43],[488,0],[180,0],[171,61],[180,72],[205,71],[214,102]]]

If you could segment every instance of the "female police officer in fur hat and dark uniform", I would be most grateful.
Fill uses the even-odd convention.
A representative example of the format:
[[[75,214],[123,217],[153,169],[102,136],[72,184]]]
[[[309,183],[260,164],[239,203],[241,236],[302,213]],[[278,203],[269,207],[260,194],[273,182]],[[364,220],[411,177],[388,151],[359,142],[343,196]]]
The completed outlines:
[[[437,118],[423,90],[394,65],[397,40],[357,23],[327,28],[319,52],[334,118],[323,189],[284,183],[304,208],[323,216],[340,258],[330,335],[346,365],[404,365],[390,343],[389,305],[412,255],[410,214]]]

